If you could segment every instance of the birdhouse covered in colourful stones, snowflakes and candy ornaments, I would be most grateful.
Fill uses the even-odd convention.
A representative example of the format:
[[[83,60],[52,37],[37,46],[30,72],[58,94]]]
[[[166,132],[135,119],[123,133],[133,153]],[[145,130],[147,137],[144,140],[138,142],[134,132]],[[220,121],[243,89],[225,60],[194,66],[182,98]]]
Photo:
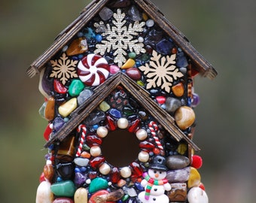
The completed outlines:
[[[28,69],[48,121],[37,203],[208,202],[194,77],[212,65],[148,0],[95,0]]]

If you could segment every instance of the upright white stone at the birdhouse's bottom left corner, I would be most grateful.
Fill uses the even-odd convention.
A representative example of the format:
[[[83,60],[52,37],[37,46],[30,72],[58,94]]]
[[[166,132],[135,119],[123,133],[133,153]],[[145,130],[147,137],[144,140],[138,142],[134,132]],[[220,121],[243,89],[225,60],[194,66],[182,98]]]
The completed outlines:
[[[43,181],[36,191],[35,203],[52,203],[53,192],[50,190],[50,182]]]

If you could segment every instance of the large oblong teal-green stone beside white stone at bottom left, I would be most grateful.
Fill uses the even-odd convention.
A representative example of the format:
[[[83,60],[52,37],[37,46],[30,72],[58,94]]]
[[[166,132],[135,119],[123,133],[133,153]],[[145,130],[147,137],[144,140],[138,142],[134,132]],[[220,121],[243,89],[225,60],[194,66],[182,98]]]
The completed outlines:
[[[75,184],[72,180],[63,180],[50,186],[51,192],[56,196],[72,197],[75,194]]]

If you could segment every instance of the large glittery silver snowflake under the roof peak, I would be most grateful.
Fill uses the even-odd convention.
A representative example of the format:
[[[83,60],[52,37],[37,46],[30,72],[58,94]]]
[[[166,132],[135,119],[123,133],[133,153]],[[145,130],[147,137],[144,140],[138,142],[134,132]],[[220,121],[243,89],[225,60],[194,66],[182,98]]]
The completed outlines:
[[[114,50],[114,62],[121,67],[126,62],[124,57],[127,55],[126,50],[137,54],[145,53],[144,44],[133,38],[143,31],[145,22],[136,21],[126,26],[126,20],[124,20],[126,15],[120,9],[117,9],[113,17],[112,23],[106,26],[102,21],[94,24],[96,32],[102,32],[102,36],[106,36],[106,40],[102,40],[101,44],[96,44],[94,53],[100,53],[103,56],[106,52]]]

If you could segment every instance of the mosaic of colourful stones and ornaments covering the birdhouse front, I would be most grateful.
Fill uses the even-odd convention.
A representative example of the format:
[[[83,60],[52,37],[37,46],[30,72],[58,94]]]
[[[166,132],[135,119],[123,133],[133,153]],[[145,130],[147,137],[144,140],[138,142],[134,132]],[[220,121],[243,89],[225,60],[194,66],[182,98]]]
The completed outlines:
[[[49,122],[45,140],[120,71],[148,91],[185,135],[192,134],[199,97],[189,59],[142,8],[118,0],[102,8],[41,71],[46,102],[39,113]],[[108,133],[118,129],[133,133],[139,143],[138,156],[123,167],[111,165],[102,153]],[[36,202],[208,202],[197,171],[202,159],[190,151],[120,85],[76,131],[50,145]]]

